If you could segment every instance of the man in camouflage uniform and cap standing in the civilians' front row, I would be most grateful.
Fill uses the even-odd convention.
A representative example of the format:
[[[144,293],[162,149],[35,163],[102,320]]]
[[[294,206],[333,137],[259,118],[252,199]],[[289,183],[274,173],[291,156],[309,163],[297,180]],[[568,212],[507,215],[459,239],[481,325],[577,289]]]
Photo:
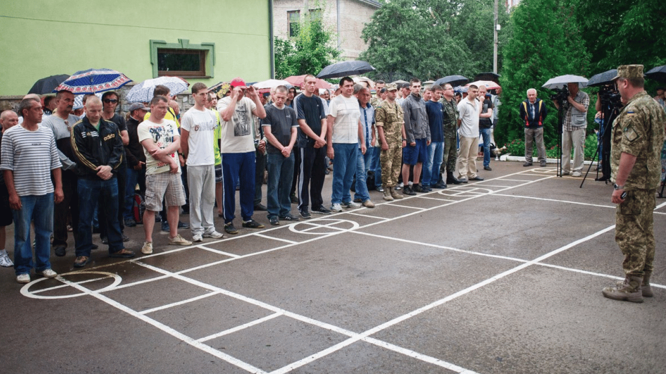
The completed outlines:
[[[382,162],[382,188],[384,200],[402,199],[394,189],[402,167],[402,148],[407,145],[402,107],[396,102],[398,87],[395,83],[386,85],[386,100],[375,108],[375,126],[382,144],[380,161]]]

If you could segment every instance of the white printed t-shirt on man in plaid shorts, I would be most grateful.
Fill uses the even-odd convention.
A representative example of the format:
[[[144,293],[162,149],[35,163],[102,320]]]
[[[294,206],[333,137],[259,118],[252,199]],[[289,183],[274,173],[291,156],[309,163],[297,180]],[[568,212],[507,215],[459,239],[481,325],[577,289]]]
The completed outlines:
[[[172,120],[163,119],[159,124],[145,120],[137,126],[137,134],[139,135],[139,142],[143,142],[146,139],[153,139],[158,148],[164,149],[173,142],[174,136],[178,136],[178,130],[176,122]],[[176,153],[173,152],[170,156],[176,160],[178,172],[180,172],[180,162],[178,162]],[[170,166],[166,162],[153,158],[146,147],[143,147],[143,154],[146,155],[146,175],[168,172],[170,170]]]

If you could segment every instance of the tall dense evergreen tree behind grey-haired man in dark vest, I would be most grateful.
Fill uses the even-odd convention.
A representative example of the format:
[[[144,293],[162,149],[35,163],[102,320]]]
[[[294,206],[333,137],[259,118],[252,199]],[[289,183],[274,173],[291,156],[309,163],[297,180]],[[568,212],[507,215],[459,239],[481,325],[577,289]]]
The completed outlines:
[[[553,91],[541,85],[559,75],[586,76],[589,71],[589,53],[573,10],[565,0],[523,0],[511,13],[513,37],[502,49],[502,106],[495,129],[498,144],[523,138],[518,106],[529,88],[537,89],[549,110],[544,125],[546,144],[557,143],[557,110],[549,100]]]

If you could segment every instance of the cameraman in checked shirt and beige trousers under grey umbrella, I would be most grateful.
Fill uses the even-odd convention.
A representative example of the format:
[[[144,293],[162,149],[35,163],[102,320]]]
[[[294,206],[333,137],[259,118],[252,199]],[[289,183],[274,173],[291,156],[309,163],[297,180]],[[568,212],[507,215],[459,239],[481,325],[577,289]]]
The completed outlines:
[[[583,169],[583,146],[587,128],[589,96],[578,88],[578,83],[567,83],[569,95],[564,103],[562,123],[562,170],[561,175],[581,176]],[[558,100],[553,100],[559,109]],[[573,144],[573,168],[571,167],[571,145]],[[571,171],[573,169],[573,172]]]

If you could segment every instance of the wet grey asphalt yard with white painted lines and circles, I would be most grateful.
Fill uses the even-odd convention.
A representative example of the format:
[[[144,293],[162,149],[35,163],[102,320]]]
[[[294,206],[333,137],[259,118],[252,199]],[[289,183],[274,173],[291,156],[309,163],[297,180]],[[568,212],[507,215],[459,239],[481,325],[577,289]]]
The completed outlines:
[[[237,218],[238,235],[190,247],[157,224],[151,256],[143,227],[126,228],[132,260],[95,235],[81,270],[70,238],[51,256],[59,278],[0,270],[0,372],[664,373],[666,206],[655,297],[613,301],[611,185],[491,166],[483,182],[394,202],[373,191],[374,209],[280,226],[256,212],[264,230]]]

